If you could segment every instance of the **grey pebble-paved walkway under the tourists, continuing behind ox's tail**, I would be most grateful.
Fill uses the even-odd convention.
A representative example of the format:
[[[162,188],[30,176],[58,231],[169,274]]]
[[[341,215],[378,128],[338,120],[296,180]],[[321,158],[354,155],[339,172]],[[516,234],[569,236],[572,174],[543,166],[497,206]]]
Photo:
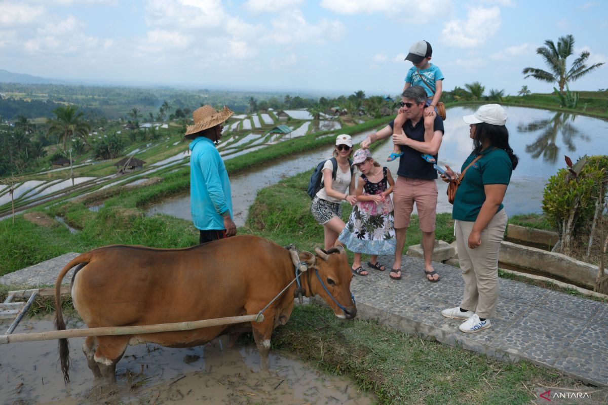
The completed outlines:
[[[77,256],[66,253],[0,277],[1,284],[54,285],[64,265]],[[403,256],[402,279],[389,278],[392,257],[380,257],[387,270],[368,269],[351,284],[358,316],[376,319],[406,333],[489,356],[558,369],[595,386],[608,387],[608,304],[558,293],[517,281],[499,279],[500,297],[492,327],[477,333],[458,330],[461,321],[441,316],[460,304],[460,269],[434,263],[441,281],[426,281],[423,260]],[[72,270],[73,271],[73,270]],[[63,282],[69,284],[71,273]]]

